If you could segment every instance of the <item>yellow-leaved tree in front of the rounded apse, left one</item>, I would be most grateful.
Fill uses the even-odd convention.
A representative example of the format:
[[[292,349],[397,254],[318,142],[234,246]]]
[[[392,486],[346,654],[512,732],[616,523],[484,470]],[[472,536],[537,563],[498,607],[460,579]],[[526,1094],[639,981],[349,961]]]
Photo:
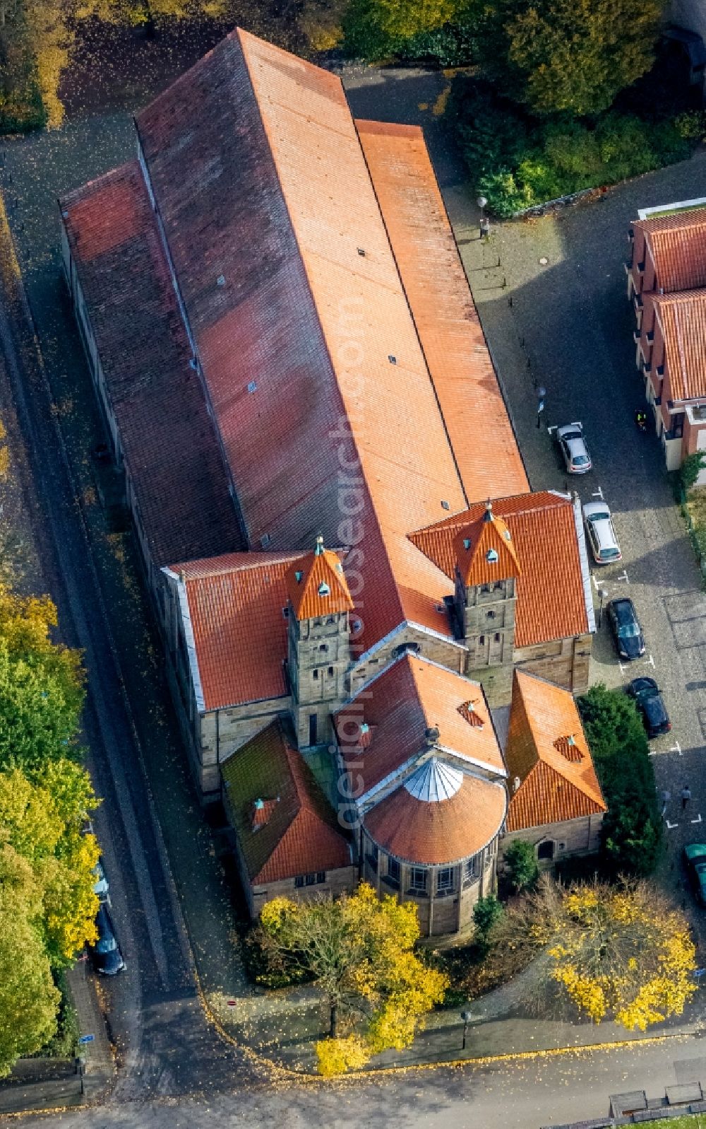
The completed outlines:
[[[364,883],[337,901],[275,898],[263,908],[261,924],[270,953],[309,975],[327,1001],[329,1038],[316,1047],[325,1076],[408,1047],[420,1017],[449,986],[445,973],[414,951],[416,905],[378,899]]]

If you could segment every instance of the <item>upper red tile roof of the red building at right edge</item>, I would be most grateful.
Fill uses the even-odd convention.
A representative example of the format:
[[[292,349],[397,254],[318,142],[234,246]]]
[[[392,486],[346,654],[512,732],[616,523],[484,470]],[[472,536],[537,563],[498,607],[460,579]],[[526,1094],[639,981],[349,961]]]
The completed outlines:
[[[665,294],[706,286],[706,209],[641,219],[659,286]]]

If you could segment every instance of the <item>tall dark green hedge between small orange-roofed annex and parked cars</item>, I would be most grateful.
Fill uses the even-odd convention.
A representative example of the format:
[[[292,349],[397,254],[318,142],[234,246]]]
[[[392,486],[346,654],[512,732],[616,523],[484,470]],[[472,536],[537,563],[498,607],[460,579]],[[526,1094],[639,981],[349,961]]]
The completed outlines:
[[[662,822],[647,737],[635,703],[623,691],[599,683],[579,699],[579,709],[608,805],[604,854],[617,872],[651,874],[660,854]]]

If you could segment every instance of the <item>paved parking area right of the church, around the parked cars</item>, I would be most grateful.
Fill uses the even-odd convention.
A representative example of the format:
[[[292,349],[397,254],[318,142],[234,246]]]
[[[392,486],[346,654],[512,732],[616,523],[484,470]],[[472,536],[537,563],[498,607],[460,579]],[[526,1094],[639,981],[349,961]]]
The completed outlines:
[[[508,224],[487,244],[477,209],[449,184],[447,203],[488,343],[501,373],[533,489],[576,490],[609,504],[623,559],[592,564],[608,601],[628,595],[645,654],[620,663],[608,618],[593,640],[591,681],[625,685],[648,675],[663,690],[671,733],[651,742],[658,790],[671,793],[660,876],[691,911],[678,863],[685,842],[706,839],[706,596],[653,434],[634,422],[643,404],[626,298],[627,229],[637,208],[703,194],[706,156],[643,177],[603,201],[555,217]],[[546,406],[537,427],[537,387]],[[547,428],[581,420],[593,461],[567,475]],[[692,793],[687,809],[680,794]],[[700,931],[700,914],[694,914]],[[706,948],[706,930],[701,934]]]

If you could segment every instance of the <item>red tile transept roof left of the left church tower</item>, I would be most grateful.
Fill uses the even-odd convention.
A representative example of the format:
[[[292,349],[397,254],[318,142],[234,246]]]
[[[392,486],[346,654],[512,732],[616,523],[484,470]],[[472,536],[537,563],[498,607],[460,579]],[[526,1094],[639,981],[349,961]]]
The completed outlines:
[[[206,710],[289,693],[286,571],[300,553],[229,553],[171,566],[184,577]]]

